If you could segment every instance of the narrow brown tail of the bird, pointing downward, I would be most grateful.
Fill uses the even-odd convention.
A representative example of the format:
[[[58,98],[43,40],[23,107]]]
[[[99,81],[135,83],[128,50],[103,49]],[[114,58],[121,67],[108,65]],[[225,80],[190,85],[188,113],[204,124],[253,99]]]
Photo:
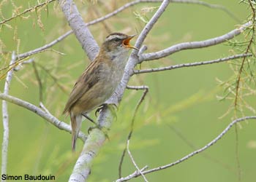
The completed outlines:
[[[82,123],[82,115],[75,115],[72,112],[70,113],[71,127],[72,127],[72,151],[75,152],[75,143],[78,138],[78,133],[80,131]]]

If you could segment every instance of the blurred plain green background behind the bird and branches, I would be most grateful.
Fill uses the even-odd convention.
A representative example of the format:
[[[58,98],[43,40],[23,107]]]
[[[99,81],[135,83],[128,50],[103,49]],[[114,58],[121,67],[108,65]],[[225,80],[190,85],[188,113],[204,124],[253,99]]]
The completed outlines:
[[[85,21],[106,15],[116,7],[129,1],[75,1]],[[220,36],[244,23],[250,14],[246,4],[238,0],[206,1],[220,4],[230,10],[240,22],[221,9],[211,9],[197,4],[171,3],[159,22],[148,34],[146,52],[162,50],[184,41],[200,41]],[[13,10],[23,12],[35,1],[2,1],[1,16],[12,17]],[[136,4],[111,17],[104,23],[91,25],[95,39],[101,44],[110,32],[140,33],[145,25],[135,17],[134,12],[152,12],[145,8],[158,7],[155,4]],[[2,20],[2,19],[1,19]],[[1,68],[7,66],[10,54],[34,50],[69,30],[57,2],[17,17],[1,26],[0,39]],[[243,39],[244,35],[237,39]],[[135,40],[132,41],[135,44]],[[60,55],[58,52],[65,55]],[[48,110],[69,123],[69,117],[61,115],[68,94],[75,80],[89,64],[86,54],[74,35],[67,37],[53,47],[31,58],[35,59],[42,80],[43,103]],[[232,47],[220,44],[197,50],[185,50],[162,60],[143,63],[141,68],[154,68],[179,63],[212,60],[232,55]],[[233,60],[237,61],[237,60]],[[138,68],[140,68],[138,66]],[[3,72],[1,72],[2,74]],[[174,162],[195,149],[203,147],[219,135],[231,122],[233,112],[219,119],[230,108],[233,100],[219,101],[223,95],[217,79],[225,81],[233,75],[229,64],[219,63],[195,68],[181,68],[173,71],[133,76],[129,84],[145,84],[150,88],[146,100],[138,111],[135,132],[130,141],[130,150],[139,167],[149,168]],[[1,88],[4,81],[1,80]],[[1,89],[3,92],[3,89]],[[109,141],[100,151],[91,169],[89,181],[114,181],[118,178],[118,163],[126,145],[129,124],[141,91],[127,90],[118,109],[117,121],[109,132]],[[14,73],[10,95],[39,105],[39,87],[34,68],[24,65]],[[256,101],[252,98],[252,101]],[[255,107],[255,105],[254,105]],[[77,157],[72,156],[71,135],[58,130],[31,111],[13,104],[8,105],[10,115],[10,145],[8,153],[8,175],[55,175],[56,181],[67,181]],[[246,113],[251,114],[251,113]],[[94,114],[91,114],[94,117]],[[87,132],[89,122],[83,123]],[[238,155],[236,135],[232,128],[216,145],[179,165],[146,175],[148,181],[238,181],[238,162],[241,181],[251,182],[256,178],[256,135],[255,121],[243,122],[238,127]],[[0,127],[2,136],[2,124]],[[0,137],[2,142],[2,137]],[[83,143],[78,141],[77,151]],[[124,159],[123,175],[135,171],[129,157]],[[135,178],[132,181],[143,181]]]

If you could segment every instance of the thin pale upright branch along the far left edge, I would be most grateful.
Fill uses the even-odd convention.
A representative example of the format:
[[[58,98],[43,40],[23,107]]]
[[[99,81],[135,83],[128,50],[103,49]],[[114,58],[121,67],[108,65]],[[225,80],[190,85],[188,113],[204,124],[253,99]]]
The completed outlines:
[[[10,65],[15,63],[16,54],[12,52],[12,60],[10,61]],[[12,72],[13,68],[10,69],[7,73],[7,77],[5,79],[4,84],[4,94],[9,94],[10,84],[12,81]],[[9,145],[9,115],[8,115],[8,107],[7,102],[5,100],[2,101],[2,115],[3,115],[3,143],[1,144],[1,175],[7,174],[7,156],[8,156],[8,145]]]

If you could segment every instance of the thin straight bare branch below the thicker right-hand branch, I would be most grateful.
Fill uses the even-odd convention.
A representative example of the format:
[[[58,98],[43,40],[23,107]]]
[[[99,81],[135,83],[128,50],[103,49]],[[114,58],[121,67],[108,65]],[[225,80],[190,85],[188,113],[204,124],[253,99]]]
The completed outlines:
[[[178,64],[178,65],[173,65],[173,66],[166,66],[162,68],[150,68],[150,69],[143,69],[143,70],[135,70],[134,74],[146,74],[146,73],[152,73],[152,72],[157,72],[157,71],[167,71],[167,70],[172,70],[176,68],[184,68],[184,67],[191,67],[191,66],[203,66],[203,65],[208,65],[208,64],[214,64],[214,63],[222,63],[227,60],[234,60],[238,58],[246,58],[250,57],[252,54],[241,54],[241,55],[233,55],[227,58],[219,58],[217,60],[205,60],[205,61],[200,61],[200,62],[195,62],[195,63],[183,63],[183,64]]]

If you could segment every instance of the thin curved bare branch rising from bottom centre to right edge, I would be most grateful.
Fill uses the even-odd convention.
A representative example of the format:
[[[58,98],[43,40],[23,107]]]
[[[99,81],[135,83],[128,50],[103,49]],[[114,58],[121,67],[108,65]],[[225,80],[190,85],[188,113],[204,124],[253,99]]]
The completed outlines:
[[[167,164],[167,165],[162,165],[160,167],[155,167],[154,169],[151,169],[151,170],[143,171],[143,175],[148,174],[148,173],[153,173],[153,172],[156,172],[156,171],[159,171],[159,170],[164,170],[164,169],[166,169],[168,167],[173,167],[174,165],[178,165],[179,163],[184,162],[185,160],[189,159],[190,157],[195,156],[195,154],[199,154],[200,152],[205,151],[206,149],[210,148],[215,143],[217,143],[217,141],[219,141],[219,139],[221,139],[222,136],[225,135],[230,130],[230,128],[233,127],[234,124],[236,124],[238,122],[242,122],[242,121],[248,120],[248,119],[256,119],[256,116],[245,116],[245,117],[233,120],[233,122],[228,124],[227,127],[225,128],[225,130],[223,130],[217,136],[217,138],[214,138],[214,140],[212,140],[211,142],[206,144],[206,146],[203,146],[201,149],[193,151],[192,153],[186,155],[185,157],[182,157],[181,159],[178,159],[176,162],[172,162],[172,163]],[[140,175],[140,173],[138,171],[135,171],[135,173],[132,173],[131,175],[128,175],[127,177],[120,178],[120,179],[116,180],[116,182],[129,181],[130,179],[136,178],[139,175]]]

